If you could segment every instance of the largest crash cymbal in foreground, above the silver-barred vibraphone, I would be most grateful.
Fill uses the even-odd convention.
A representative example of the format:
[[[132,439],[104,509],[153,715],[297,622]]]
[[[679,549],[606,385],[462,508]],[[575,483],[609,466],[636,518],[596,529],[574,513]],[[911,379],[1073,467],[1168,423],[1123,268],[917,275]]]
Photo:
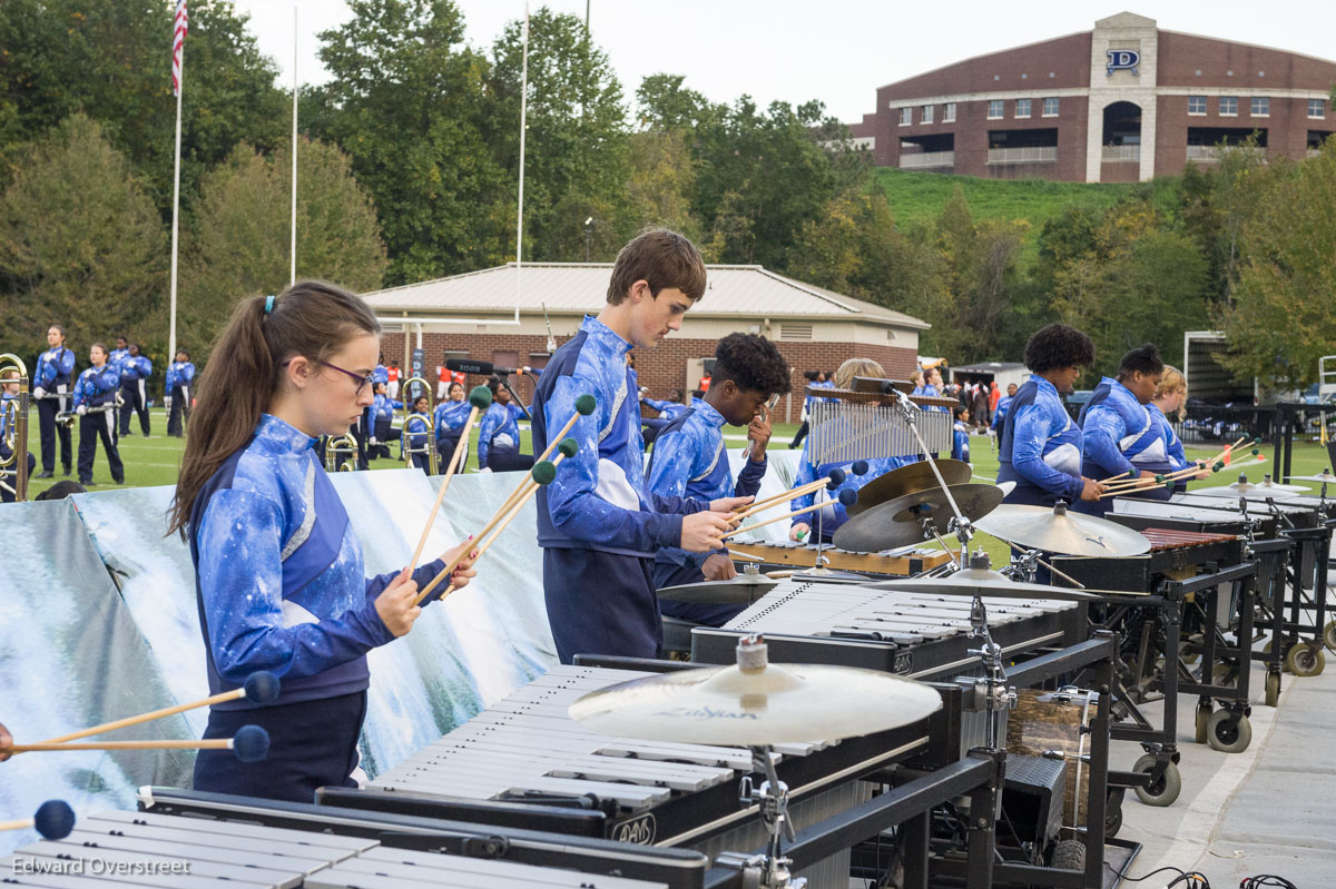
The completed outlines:
[[[741,651],[747,645],[739,646],[745,667],[621,682],[572,703],[570,718],[616,737],[762,746],[872,734],[942,707],[941,695],[922,682],[856,667],[772,665],[763,643]]]

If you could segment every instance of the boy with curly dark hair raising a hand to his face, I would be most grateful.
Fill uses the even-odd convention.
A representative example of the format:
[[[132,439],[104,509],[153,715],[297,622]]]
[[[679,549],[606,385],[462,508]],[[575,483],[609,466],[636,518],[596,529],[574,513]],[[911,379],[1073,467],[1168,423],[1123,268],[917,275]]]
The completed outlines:
[[[779,350],[756,334],[729,334],[715,348],[715,372],[709,391],[669,422],[655,438],[649,458],[649,490],[659,497],[689,497],[708,503],[724,497],[755,497],[766,475],[766,444],[770,420],[762,407],[774,394],[791,386],[788,364]],[[751,458],[737,474],[728,467],[723,426],[747,426],[752,442]],[[700,581],[727,581],[735,577],[728,550],[688,553],[663,547],[655,554],[655,590]],[[723,626],[743,610],[741,605],[703,605],[660,599],[667,617]]]

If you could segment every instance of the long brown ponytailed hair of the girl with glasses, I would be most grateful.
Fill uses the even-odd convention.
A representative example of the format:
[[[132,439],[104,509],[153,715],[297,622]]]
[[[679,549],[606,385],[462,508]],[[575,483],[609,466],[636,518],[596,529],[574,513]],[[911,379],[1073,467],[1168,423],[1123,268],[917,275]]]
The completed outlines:
[[[273,308],[266,314],[269,300]],[[167,533],[186,535],[200,489],[250,440],[278,391],[282,362],[298,355],[325,360],[349,340],[379,332],[375,314],[361,298],[326,282],[302,280],[277,298],[243,299],[200,374]]]

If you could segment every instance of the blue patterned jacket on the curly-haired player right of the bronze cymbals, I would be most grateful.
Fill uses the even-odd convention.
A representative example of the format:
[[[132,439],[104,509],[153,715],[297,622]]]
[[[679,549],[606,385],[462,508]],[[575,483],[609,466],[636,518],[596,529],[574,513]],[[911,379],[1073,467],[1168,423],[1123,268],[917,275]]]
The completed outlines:
[[[998,482],[1015,482],[1005,503],[1051,506],[1081,498],[1081,427],[1058,388],[1038,374],[1011,399],[998,440]]]

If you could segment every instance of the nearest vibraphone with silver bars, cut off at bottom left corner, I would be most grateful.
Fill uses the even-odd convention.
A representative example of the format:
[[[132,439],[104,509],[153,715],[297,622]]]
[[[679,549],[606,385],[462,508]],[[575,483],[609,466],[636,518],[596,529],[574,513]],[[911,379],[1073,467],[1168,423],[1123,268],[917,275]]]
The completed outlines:
[[[171,794],[172,792],[166,792]],[[216,797],[223,802],[196,808],[187,797],[186,814],[158,812],[80,813],[75,830],[64,840],[41,840],[0,858],[0,877],[7,885],[59,886],[166,886],[168,889],[401,889],[403,886],[452,886],[469,889],[509,889],[545,886],[558,889],[669,889],[699,885],[689,874],[704,870],[704,860],[689,856],[645,853],[636,870],[671,874],[660,880],[607,876],[599,869],[570,869],[573,862],[554,866],[520,864],[500,856],[470,856],[472,842],[481,850],[486,841],[498,842],[496,832],[480,833],[460,824],[394,818],[315,820],[315,806],[273,804],[246,797]],[[143,797],[142,797],[143,798]],[[151,798],[151,797],[150,797]],[[330,812],[323,812],[329,816]],[[274,826],[274,825],[283,826]],[[399,834],[402,845],[410,834],[420,845],[452,845],[440,854],[389,845],[378,838],[383,832]],[[514,837],[536,842],[534,837]],[[553,861],[558,861],[560,838],[549,838]],[[589,844],[588,857],[607,857],[613,844]],[[446,849],[441,849],[446,850]],[[635,849],[617,849],[624,857]],[[566,856],[570,857],[570,856]],[[612,869],[612,868],[609,868]],[[675,873],[680,872],[680,873]]]

